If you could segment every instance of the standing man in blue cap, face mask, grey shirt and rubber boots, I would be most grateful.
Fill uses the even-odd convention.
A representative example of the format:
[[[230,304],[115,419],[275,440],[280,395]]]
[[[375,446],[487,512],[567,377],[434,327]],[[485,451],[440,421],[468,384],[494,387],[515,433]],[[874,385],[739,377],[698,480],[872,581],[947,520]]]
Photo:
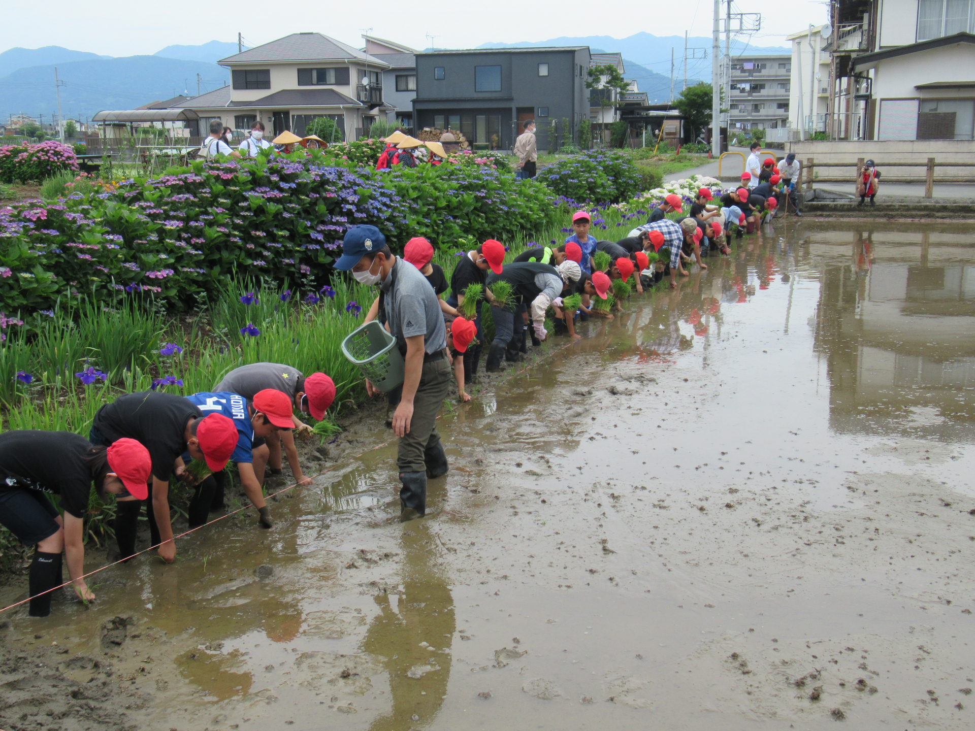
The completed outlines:
[[[351,270],[357,282],[379,285],[382,291],[386,323],[406,361],[403,396],[393,414],[393,431],[400,438],[400,519],[423,518],[427,478],[448,471],[437,433],[437,411],[447,398],[451,377],[440,302],[419,269],[394,256],[375,226],[352,226],[346,232],[335,269]],[[366,391],[378,393],[368,379]]]

